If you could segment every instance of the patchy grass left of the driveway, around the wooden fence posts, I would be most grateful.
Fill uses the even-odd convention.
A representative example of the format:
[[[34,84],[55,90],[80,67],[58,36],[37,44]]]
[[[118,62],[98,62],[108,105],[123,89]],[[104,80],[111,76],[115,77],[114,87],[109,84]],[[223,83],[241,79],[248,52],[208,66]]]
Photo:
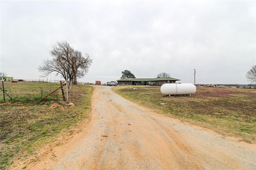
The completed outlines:
[[[72,127],[89,117],[93,88],[72,86],[69,101],[63,102],[61,90],[38,102],[59,83],[5,82],[12,101],[0,96],[0,169],[10,169],[15,161],[30,162],[38,148],[51,143],[60,133],[75,133]]]

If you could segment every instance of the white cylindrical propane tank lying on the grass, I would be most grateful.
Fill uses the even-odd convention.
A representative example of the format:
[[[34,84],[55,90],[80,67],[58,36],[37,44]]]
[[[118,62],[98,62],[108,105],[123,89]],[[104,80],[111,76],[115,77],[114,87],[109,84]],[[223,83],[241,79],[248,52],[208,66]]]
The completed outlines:
[[[166,83],[160,88],[164,95],[188,95],[196,92],[196,86],[192,83]]]

